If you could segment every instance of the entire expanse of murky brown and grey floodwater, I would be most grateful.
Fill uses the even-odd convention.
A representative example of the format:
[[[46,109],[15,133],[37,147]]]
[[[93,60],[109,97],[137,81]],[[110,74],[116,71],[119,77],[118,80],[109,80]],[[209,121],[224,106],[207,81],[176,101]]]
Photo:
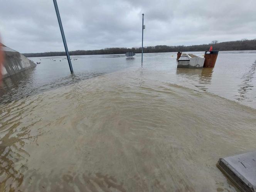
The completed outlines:
[[[73,75],[43,57],[4,79],[0,191],[238,191],[216,163],[256,148],[256,51],[220,52],[214,69],[72,58]]]

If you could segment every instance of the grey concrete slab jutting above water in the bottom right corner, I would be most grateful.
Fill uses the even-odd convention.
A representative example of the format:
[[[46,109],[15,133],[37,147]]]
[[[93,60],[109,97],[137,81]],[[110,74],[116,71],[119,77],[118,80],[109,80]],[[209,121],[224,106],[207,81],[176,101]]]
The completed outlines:
[[[220,158],[217,167],[243,192],[256,192],[256,151]]]

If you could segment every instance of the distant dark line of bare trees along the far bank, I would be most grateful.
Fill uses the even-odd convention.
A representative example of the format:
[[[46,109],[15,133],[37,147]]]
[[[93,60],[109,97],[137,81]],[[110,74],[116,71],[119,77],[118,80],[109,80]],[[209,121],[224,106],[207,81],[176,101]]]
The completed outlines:
[[[143,47],[144,53],[159,53],[159,52],[178,52],[178,51],[207,51],[210,46],[213,46],[213,50],[219,51],[241,51],[241,50],[256,50],[256,39],[247,40],[241,39],[237,41],[218,42],[213,40],[210,44],[202,45],[179,45],[179,46],[167,46],[167,45],[156,45]],[[105,48],[98,50],[76,50],[69,51],[72,56],[76,55],[100,55],[100,54],[125,54],[126,52],[141,53],[141,47],[114,47]],[[44,52],[44,53],[25,53],[26,57],[46,57],[46,56],[65,56],[65,52]]]

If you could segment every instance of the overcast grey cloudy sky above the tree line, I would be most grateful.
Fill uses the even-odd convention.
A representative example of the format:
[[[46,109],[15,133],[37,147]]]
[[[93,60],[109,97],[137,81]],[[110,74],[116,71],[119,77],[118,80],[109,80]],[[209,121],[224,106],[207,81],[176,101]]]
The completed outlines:
[[[256,0],[58,0],[69,51],[256,38]],[[52,0],[0,0],[3,44],[64,51]]]

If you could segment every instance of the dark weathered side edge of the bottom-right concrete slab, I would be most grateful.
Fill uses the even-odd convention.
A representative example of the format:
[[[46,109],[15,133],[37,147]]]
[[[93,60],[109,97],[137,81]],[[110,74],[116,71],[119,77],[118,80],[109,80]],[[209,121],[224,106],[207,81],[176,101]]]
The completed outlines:
[[[220,158],[217,165],[219,170],[224,173],[242,192],[256,192],[253,184],[236,171],[224,158]]]

